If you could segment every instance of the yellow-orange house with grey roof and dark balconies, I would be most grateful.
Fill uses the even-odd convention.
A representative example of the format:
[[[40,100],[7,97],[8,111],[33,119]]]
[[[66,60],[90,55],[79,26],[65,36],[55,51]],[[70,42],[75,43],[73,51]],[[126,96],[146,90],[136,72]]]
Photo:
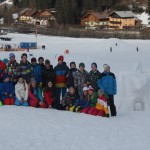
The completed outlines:
[[[135,16],[131,11],[114,11],[109,15],[109,29],[131,29],[135,27]]]

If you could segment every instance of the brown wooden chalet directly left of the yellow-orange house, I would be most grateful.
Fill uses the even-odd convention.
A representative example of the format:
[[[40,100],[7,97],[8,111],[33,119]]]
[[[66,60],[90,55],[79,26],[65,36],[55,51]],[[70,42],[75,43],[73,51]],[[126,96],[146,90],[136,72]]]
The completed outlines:
[[[109,13],[88,13],[81,18],[81,26],[86,29],[108,29],[109,28]]]

